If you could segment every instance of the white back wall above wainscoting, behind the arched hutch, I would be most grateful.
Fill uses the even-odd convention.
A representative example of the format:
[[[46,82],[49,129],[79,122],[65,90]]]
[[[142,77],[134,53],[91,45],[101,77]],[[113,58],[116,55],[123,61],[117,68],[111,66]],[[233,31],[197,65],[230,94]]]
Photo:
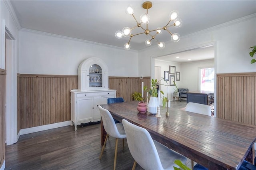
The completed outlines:
[[[21,30],[19,36],[18,73],[77,75],[84,59],[98,57],[108,65],[109,76],[139,76],[137,51],[32,30]]]

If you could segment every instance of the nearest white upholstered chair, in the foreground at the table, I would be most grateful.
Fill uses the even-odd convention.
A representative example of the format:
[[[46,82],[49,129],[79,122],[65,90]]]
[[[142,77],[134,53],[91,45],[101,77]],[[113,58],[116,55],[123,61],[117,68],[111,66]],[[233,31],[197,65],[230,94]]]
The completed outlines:
[[[148,130],[124,119],[122,123],[130,153],[135,160],[132,170],[135,169],[137,163],[145,170],[173,170],[174,160],[186,162],[185,156],[153,140]]]

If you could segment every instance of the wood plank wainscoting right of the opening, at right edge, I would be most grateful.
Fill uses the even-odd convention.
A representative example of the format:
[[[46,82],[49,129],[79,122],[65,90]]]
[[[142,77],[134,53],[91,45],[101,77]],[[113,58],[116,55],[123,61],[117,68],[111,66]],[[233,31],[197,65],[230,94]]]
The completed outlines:
[[[256,72],[217,74],[217,117],[256,125]]]

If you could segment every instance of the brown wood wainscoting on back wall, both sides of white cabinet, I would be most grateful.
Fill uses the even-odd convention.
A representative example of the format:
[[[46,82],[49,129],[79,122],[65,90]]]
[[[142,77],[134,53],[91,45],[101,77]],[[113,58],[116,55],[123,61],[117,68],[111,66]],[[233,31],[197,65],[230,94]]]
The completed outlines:
[[[150,85],[150,77],[109,77],[108,82],[116,97],[131,101],[142,81]],[[70,90],[78,89],[77,75],[17,74],[17,88],[18,131],[71,120]]]

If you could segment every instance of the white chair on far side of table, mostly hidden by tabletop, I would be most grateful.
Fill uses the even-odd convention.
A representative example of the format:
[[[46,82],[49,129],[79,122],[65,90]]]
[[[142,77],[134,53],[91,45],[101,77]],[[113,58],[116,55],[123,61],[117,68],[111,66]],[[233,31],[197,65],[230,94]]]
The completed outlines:
[[[188,102],[186,105],[185,111],[198,113],[201,115],[207,115],[207,116],[212,115],[211,107],[208,105],[200,104],[200,103]],[[194,168],[194,162],[193,160],[191,160],[191,169],[193,170],[193,168]]]

